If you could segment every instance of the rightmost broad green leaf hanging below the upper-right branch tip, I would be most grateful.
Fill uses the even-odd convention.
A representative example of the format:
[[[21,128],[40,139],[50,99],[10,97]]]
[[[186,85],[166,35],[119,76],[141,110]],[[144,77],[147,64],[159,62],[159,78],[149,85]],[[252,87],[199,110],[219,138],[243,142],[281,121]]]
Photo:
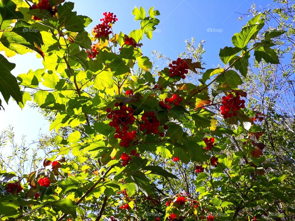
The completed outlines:
[[[254,49],[254,56],[258,62],[261,62],[262,58],[265,62],[270,64],[280,64],[277,53],[269,47],[259,46]]]

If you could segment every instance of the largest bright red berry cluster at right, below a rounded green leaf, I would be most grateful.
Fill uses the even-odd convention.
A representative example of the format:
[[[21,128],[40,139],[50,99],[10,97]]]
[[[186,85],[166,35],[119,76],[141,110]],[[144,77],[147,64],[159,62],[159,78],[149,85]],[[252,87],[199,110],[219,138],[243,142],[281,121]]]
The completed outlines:
[[[246,97],[247,93],[243,92],[240,96],[240,92],[236,91],[235,95],[234,97],[232,93],[229,93],[227,96],[221,98],[222,105],[219,109],[224,119],[238,116],[237,111],[245,108],[245,100],[241,100],[241,96]]]

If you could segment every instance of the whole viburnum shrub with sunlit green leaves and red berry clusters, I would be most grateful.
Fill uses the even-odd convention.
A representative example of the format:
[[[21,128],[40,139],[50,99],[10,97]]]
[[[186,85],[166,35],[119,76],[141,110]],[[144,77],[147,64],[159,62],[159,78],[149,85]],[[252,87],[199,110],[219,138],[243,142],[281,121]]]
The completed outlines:
[[[284,205],[290,187],[278,190],[285,176],[269,169],[259,140],[264,115],[246,108],[239,89],[252,52],[278,61],[272,38],[283,32],[257,37],[262,14],[220,50],[224,68],[202,71],[199,56],[185,53],[159,70],[140,48],[160,22],[153,7],[135,7],[140,27],[128,34],[114,32],[112,12],[87,33],[92,20],[74,3],[30,2],[0,3],[0,48],[37,52],[44,67],[15,78],[0,54],[0,92],[21,108],[33,100],[50,134],[38,142],[43,165],[32,162],[28,174],[1,167],[1,220],[237,221]]]

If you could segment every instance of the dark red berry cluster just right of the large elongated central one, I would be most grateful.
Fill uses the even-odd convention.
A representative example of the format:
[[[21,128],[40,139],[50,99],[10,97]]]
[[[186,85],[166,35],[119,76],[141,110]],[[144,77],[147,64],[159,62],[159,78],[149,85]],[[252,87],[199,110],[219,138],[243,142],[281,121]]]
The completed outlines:
[[[141,117],[143,123],[140,124],[139,130],[144,131],[146,130],[146,134],[159,134],[160,137],[164,137],[164,133],[159,133],[159,126],[161,123],[155,116],[154,111],[151,112],[144,112],[144,115]],[[167,128],[167,125],[164,126]]]

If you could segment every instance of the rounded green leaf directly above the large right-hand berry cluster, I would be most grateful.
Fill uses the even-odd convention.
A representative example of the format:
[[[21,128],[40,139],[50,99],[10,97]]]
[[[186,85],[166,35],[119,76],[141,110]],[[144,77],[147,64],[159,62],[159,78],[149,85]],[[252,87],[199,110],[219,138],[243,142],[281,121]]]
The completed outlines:
[[[238,73],[233,70],[226,71],[217,79],[217,82],[219,82],[218,87],[230,89],[238,89],[238,85],[243,83]]]

